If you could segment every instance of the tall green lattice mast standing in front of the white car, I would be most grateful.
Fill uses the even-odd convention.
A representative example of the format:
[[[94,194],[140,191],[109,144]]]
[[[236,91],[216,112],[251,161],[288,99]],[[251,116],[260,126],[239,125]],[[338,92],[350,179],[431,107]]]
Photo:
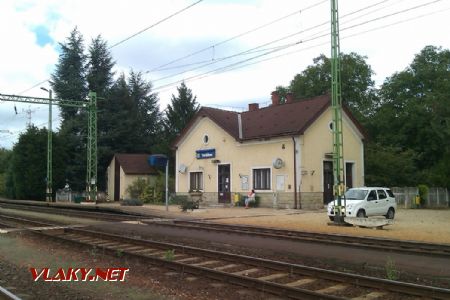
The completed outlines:
[[[335,205],[334,223],[344,224],[345,211],[342,198],[344,185],[344,141],[342,134],[342,93],[341,93],[341,58],[339,40],[338,0],[331,0],[331,107],[333,110],[333,196]]]

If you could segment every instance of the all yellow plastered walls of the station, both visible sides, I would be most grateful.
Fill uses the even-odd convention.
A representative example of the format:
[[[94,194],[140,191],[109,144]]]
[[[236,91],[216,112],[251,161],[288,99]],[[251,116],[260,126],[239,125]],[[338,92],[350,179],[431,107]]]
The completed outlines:
[[[297,191],[305,197],[312,197],[314,207],[320,207],[323,193],[323,161],[325,153],[332,153],[332,131],[329,123],[332,120],[331,109],[326,110],[297,140]],[[208,143],[203,137],[208,135]],[[362,136],[354,124],[343,114],[344,160],[352,162],[353,186],[364,185],[364,157]],[[196,150],[215,149],[216,157],[197,159]],[[201,118],[180,141],[176,151],[176,182],[178,193],[189,191],[189,173],[203,172],[203,192],[217,193],[218,164],[213,159],[220,160],[219,164],[230,164],[230,191],[246,193],[252,188],[252,169],[271,169],[271,190],[256,191],[257,195],[266,194],[269,203],[274,192],[285,195],[286,201],[294,201],[294,146],[292,137],[271,138],[265,141],[237,142],[231,135],[220,128],[209,118]],[[281,169],[273,167],[273,160],[281,158],[284,166]],[[185,173],[178,171],[178,166],[187,166]],[[277,190],[277,175],[284,177],[284,188]],[[241,178],[248,176],[248,189],[242,189]],[[288,194],[292,193],[292,194]],[[269,197],[270,196],[270,197]],[[303,197],[302,201],[306,201]],[[279,199],[278,199],[279,200]],[[284,200],[283,200],[284,201]],[[311,203],[312,203],[311,202]],[[309,202],[308,202],[309,203]],[[286,206],[287,207],[287,206]],[[292,207],[292,205],[290,205]],[[313,207],[313,206],[310,206]]]

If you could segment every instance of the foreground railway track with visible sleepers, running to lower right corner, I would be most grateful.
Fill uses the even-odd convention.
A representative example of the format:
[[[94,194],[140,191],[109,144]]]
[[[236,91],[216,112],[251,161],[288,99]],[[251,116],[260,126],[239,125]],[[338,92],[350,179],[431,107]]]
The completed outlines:
[[[9,219],[11,221],[11,219]],[[22,222],[24,219],[16,220]],[[34,221],[33,221],[34,222]],[[49,224],[45,224],[49,225]],[[450,290],[78,228],[32,232],[293,299],[449,299]]]

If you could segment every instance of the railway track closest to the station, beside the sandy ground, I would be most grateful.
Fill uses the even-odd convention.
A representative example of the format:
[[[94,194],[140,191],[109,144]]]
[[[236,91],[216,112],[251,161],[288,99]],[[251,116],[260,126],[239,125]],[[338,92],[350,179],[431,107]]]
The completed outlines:
[[[373,250],[392,251],[425,256],[438,256],[450,258],[450,245],[422,243],[415,241],[390,240],[376,237],[356,237],[342,234],[326,234],[319,232],[305,232],[296,230],[283,230],[269,227],[256,227],[247,225],[220,224],[205,221],[143,221],[146,224],[157,226],[170,226],[190,228],[206,231],[261,236],[272,239],[288,239],[302,242],[325,243],[345,247],[355,247]]]

